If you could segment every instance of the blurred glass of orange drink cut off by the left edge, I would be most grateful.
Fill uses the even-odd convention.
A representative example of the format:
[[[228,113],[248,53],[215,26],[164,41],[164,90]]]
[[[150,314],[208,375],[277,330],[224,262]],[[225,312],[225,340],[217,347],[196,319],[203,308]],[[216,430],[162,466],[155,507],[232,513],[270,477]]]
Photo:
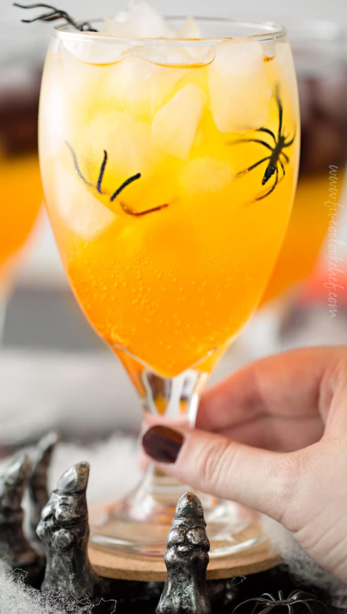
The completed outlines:
[[[41,38],[17,23],[2,23],[1,29],[0,341],[15,265],[43,198],[37,156]]]

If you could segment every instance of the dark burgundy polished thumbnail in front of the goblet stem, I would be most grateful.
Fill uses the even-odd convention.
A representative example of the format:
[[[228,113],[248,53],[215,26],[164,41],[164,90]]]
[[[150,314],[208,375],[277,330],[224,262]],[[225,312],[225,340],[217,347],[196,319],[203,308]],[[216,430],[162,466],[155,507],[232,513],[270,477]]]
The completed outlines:
[[[142,437],[142,447],[148,456],[171,464],[176,462],[183,442],[182,433],[161,424],[152,426]]]

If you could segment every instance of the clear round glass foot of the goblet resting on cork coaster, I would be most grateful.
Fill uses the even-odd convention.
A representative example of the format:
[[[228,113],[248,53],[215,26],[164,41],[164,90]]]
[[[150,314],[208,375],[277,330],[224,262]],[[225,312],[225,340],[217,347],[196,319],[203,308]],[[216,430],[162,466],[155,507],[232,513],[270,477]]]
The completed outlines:
[[[96,546],[141,556],[162,557],[176,504],[191,490],[149,467],[130,495],[91,515],[91,541]],[[225,556],[254,546],[266,536],[250,529],[258,516],[237,503],[198,492],[203,503],[210,556]]]

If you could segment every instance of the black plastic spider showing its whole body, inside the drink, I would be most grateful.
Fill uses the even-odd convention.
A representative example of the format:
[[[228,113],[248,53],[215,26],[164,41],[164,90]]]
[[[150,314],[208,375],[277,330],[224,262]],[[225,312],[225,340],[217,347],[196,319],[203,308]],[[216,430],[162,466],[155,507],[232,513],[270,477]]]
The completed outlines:
[[[263,132],[266,134],[270,134],[271,138],[274,141],[273,146],[271,146],[266,141],[263,141],[262,139],[236,139],[236,141],[230,142],[230,144],[233,144],[233,145],[237,145],[240,143],[259,143],[260,145],[262,145],[263,147],[266,147],[271,152],[270,155],[267,155],[265,158],[258,160],[251,166],[248,166],[248,168],[245,168],[243,171],[240,171],[240,173],[238,173],[238,177],[241,177],[242,175],[249,173],[249,171],[252,171],[254,168],[257,168],[257,166],[259,166],[263,162],[267,162],[267,168],[265,168],[265,173],[262,179],[262,185],[267,184],[269,179],[274,174],[276,174],[275,182],[270,188],[270,190],[268,190],[266,194],[257,196],[255,200],[263,200],[263,198],[266,198],[268,195],[271,194],[271,192],[273,192],[273,190],[275,190],[276,185],[278,184],[279,181],[281,181],[279,180],[279,168],[278,168],[279,166],[281,166],[281,169],[283,172],[283,176],[281,178],[283,179],[284,175],[286,174],[286,170],[284,169],[284,163],[289,162],[289,158],[287,154],[284,153],[283,149],[290,147],[290,145],[294,143],[294,139],[295,139],[295,133],[294,133],[294,136],[291,139],[289,139],[289,141],[287,141],[287,138],[289,135],[288,134],[285,135],[283,132],[283,106],[281,103],[281,99],[279,98],[278,87],[276,87],[275,98],[276,98],[276,103],[278,106],[278,116],[279,116],[277,138],[275,134],[273,133],[273,131],[270,130],[269,128],[257,128],[257,130],[255,130],[255,132]],[[281,159],[281,157],[283,158]]]

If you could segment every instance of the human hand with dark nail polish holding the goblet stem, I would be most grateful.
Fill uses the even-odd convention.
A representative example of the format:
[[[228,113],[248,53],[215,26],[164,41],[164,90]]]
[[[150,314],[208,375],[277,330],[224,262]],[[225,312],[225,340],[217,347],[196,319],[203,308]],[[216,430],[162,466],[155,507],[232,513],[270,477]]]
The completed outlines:
[[[206,392],[197,429],[152,426],[168,475],[267,514],[347,582],[347,348],[259,360]]]

